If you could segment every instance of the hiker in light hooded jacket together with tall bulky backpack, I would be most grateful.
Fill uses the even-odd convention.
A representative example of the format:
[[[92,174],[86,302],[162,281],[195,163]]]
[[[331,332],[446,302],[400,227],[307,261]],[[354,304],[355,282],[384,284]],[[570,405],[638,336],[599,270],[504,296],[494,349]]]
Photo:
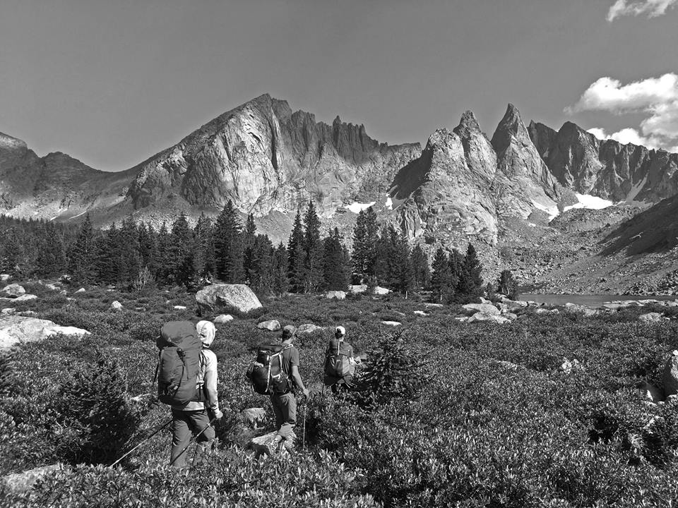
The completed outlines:
[[[198,450],[211,452],[212,423],[223,416],[217,396],[217,357],[210,351],[216,330],[212,322],[170,321],[160,329],[157,346],[158,399],[172,407],[172,451],[169,463],[180,468],[196,435]]]

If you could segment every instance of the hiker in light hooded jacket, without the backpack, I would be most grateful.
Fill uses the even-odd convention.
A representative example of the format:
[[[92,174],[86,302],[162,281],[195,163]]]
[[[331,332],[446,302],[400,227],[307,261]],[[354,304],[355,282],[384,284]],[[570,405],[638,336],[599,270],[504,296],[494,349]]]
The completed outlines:
[[[186,462],[186,447],[192,435],[198,435],[198,452],[208,454],[214,444],[214,428],[210,421],[223,416],[217,397],[217,356],[210,350],[216,329],[210,321],[198,321],[198,338],[202,343],[196,387],[198,400],[181,406],[172,405],[172,452],[170,464],[181,468]]]

